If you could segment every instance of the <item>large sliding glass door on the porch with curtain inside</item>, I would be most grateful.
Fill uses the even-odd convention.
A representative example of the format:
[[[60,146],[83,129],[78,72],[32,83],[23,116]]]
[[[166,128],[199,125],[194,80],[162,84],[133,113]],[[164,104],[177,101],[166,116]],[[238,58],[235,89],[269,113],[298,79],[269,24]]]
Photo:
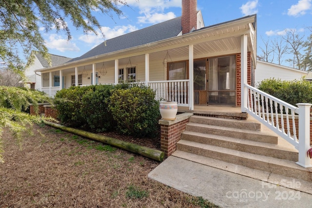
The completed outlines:
[[[194,104],[236,105],[236,56],[194,60]]]

